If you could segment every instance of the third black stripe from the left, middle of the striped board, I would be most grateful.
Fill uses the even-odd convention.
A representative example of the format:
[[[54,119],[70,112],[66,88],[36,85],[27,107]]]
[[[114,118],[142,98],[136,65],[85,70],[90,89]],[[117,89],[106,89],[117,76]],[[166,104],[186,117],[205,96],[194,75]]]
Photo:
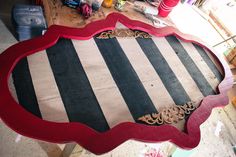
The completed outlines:
[[[133,118],[157,112],[117,39],[94,40]]]

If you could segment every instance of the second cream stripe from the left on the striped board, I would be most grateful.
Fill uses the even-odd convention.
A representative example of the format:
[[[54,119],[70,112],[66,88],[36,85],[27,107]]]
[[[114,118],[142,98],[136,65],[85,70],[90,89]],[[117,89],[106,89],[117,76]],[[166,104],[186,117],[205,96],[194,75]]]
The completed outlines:
[[[131,113],[93,39],[72,40],[96,98],[110,127],[133,122]]]

